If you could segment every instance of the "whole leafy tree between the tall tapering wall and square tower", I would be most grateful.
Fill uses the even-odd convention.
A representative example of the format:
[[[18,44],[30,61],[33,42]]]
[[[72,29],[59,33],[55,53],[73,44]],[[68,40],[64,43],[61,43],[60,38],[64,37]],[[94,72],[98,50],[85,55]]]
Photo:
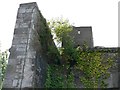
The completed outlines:
[[[69,36],[69,33],[72,31],[72,25],[70,25],[68,20],[63,18],[52,19],[48,22],[48,25],[54,36],[54,40],[57,41],[58,44],[62,44],[62,47],[59,47],[62,61],[63,59],[64,61],[68,61],[70,53],[71,55],[74,53],[73,41]]]

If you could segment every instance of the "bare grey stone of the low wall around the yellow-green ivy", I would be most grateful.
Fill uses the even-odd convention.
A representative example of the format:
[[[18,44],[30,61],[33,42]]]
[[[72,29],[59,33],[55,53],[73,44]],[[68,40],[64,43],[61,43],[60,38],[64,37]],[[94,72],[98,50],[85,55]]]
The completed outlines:
[[[99,47],[99,48],[89,48],[87,50],[84,50],[86,52],[94,52],[94,51],[98,51],[101,52],[103,54],[104,60],[108,59],[109,57],[113,57],[113,60],[116,63],[116,67],[113,69],[110,69],[110,77],[105,81],[108,84],[107,88],[118,88],[119,82],[120,82],[120,71],[119,71],[119,56],[118,56],[118,48],[103,48],[103,47]],[[83,76],[82,72],[79,71],[74,71],[73,72],[75,74],[75,83],[77,85],[78,88],[84,88],[83,84],[79,81],[80,77]]]

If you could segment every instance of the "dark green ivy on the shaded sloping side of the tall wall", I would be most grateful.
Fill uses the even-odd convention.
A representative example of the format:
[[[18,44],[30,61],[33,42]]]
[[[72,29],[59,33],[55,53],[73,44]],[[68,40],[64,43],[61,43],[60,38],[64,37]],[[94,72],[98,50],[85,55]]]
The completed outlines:
[[[38,19],[40,20],[38,25],[40,30],[37,31],[42,48],[40,52],[42,52],[42,54],[49,59],[47,61],[48,63],[59,63],[59,52],[57,52],[57,48],[54,46],[51,31],[46,19],[42,16],[42,14],[40,15],[40,19]]]

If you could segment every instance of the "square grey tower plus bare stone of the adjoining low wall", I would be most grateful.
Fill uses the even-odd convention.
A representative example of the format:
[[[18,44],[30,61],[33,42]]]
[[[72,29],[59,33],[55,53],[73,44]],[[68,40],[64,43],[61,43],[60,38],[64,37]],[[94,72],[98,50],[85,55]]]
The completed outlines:
[[[108,88],[118,87],[119,86],[119,57],[118,57],[118,48],[105,48],[105,47],[94,47],[93,45],[93,35],[92,35],[92,27],[73,27],[73,31],[70,33],[71,37],[73,37],[74,47],[83,46],[84,43],[88,45],[87,52],[99,51],[105,54],[105,58],[112,57],[116,55],[114,61],[117,64],[116,70],[112,70],[110,73],[110,78],[106,80],[108,83]],[[81,74],[78,74],[81,76]],[[78,75],[76,77],[78,77]],[[76,80],[78,81],[78,80]],[[82,84],[78,84],[78,87],[83,87]]]

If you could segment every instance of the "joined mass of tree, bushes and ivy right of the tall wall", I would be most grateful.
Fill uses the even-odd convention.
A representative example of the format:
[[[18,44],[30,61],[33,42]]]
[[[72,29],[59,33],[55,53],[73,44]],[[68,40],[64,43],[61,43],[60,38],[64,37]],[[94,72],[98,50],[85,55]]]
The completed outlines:
[[[74,47],[70,37],[72,26],[68,20],[55,19],[48,22],[54,39],[62,43],[59,47],[60,64],[49,64],[45,87],[47,88],[75,88],[74,71],[83,73],[80,82],[86,88],[105,88],[105,80],[109,78],[109,70],[115,66],[113,57],[105,58],[104,53],[89,52],[87,44]],[[49,48],[49,47],[48,47]],[[54,51],[54,49],[51,49]],[[51,52],[49,52],[51,53]],[[51,56],[53,57],[53,56]],[[56,59],[53,57],[53,59]]]

